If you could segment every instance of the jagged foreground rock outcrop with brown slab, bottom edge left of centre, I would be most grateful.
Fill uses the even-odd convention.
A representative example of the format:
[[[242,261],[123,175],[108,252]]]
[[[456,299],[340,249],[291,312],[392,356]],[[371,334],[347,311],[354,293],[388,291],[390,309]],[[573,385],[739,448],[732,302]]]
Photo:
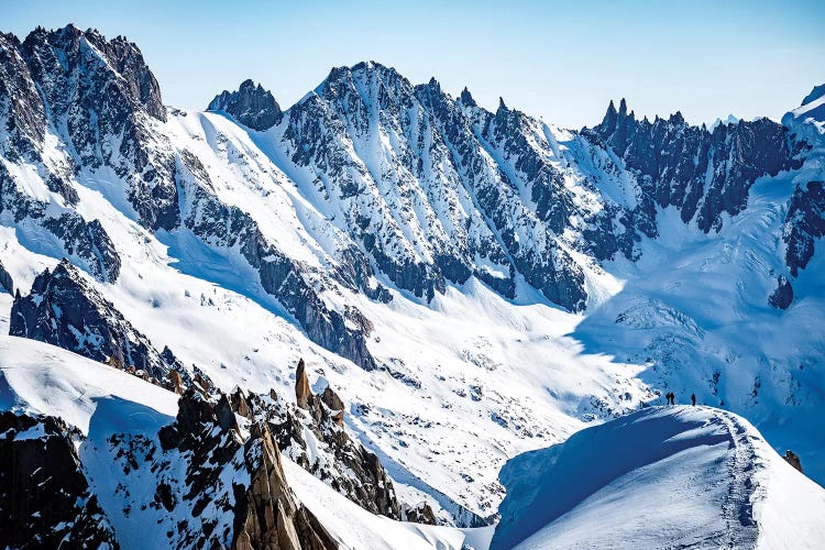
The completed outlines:
[[[211,502],[233,517],[231,526],[211,525],[202,518],[201,524],[210,527],[200,534],[190,530],[184,543],[202,547],[229,541],[232,548],[243,550],[337,548],[318,519],[295,499],[266,425],[253,421],[244,441],[226,395],[212,402],[188,389],[180,397],[175,424],[163,428],[160,438],[167,454],[175,450],[191,453],[183,480],[186,496],[179,503],[182,512],[190,510],[195,519]],[[232,482],[230,486],[223,481],[227,477],[248,477],[249,484]]]

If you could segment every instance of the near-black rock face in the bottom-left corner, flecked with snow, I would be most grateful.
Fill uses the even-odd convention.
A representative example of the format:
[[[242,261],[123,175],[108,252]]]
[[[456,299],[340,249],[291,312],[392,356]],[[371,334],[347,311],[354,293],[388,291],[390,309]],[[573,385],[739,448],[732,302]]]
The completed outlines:
[[[59,419],[0,413],[0,546],[118,548]]]

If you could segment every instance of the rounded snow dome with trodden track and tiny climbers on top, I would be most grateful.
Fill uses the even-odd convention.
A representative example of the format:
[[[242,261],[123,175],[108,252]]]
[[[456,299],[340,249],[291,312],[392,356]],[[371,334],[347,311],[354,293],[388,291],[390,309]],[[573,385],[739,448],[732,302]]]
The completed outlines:
[[[517,457],[492,548],[821,548],[825,490],[745,419],[653,407]]]

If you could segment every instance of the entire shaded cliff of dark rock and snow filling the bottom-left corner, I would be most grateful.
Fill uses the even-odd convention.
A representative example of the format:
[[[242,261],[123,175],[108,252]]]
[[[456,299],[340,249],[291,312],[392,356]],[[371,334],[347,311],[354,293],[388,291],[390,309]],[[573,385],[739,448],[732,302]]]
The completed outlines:
[[[226,396],[188,389],[158,435],[99,443],[59,418],[0,413],[3,548],[117,549],[112,526],[146,519],[169,548],[337,548],[293,494],[266,426],[242,436]],[[89,454],[98,462],[87,472]]]

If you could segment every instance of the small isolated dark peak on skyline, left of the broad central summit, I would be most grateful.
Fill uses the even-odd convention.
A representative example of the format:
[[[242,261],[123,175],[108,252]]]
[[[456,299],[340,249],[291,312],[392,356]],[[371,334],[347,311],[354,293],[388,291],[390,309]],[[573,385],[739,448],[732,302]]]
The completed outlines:
[[[222,111],[252,130],[264,131],[280,123],[284,113],[270,90],[252,80],[237,91],[223,90],[209,103],[208,111]]]

